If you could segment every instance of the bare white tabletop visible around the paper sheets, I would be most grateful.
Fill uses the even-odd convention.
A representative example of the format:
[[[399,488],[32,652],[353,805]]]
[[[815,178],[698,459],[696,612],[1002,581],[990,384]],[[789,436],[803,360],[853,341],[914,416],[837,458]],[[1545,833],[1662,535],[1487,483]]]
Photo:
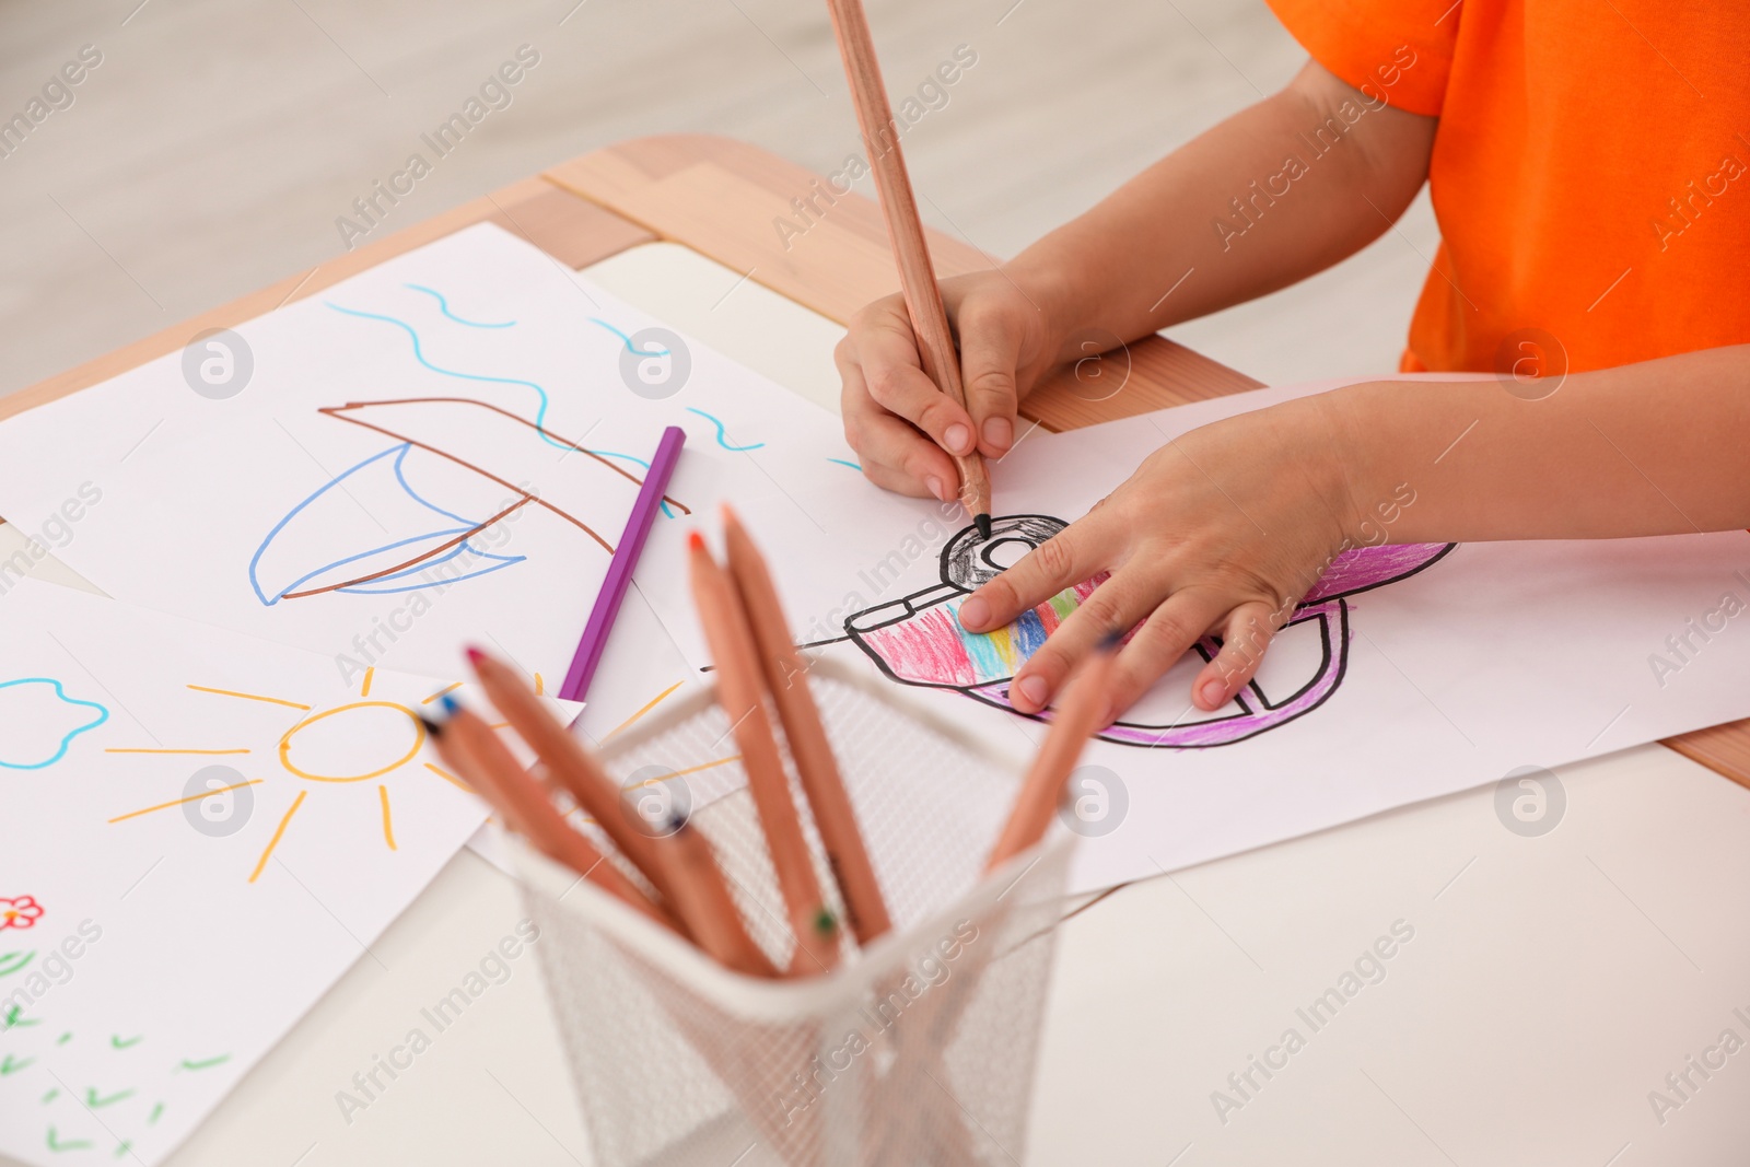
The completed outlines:
[[[676,245],[590,275],[835,404],[838,325]],[[0,558],[18,539],[0,527]],[[52,563],[46,577],[77,583]],[[1726,1029],[1750,1043],[1750,791],[1657,745],[1558,773],[1566,810],[1536,838],[1502,824],[1488,786],[1132,884],[1071,919],[1024,1160],[1741,1167],[1750,1045],[1706,1080],[1689,1071],[1662,1122],[1648,1092],[1678,1101],[1666,1074]],[[520,919],[511,880],[458,854],[170,1162],[588,1164],[528,957],[368,1109],[348,1122],[336,1102]],[[1297,1008],[1398,920],[1414,938],[1384,980],[1312,1032]],[[1286,1027],[1306,1046],[1241,1099],[1228,1074]],[[1214,1090],[1244,1101],[1225,1122]]]

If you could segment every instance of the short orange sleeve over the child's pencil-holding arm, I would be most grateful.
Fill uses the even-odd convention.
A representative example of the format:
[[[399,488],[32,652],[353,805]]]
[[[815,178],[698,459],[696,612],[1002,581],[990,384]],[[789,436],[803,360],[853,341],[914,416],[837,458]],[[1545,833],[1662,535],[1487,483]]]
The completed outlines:
[[[1363,91],[1437,117],[1463,0],[1269,0],[1312,59]]]

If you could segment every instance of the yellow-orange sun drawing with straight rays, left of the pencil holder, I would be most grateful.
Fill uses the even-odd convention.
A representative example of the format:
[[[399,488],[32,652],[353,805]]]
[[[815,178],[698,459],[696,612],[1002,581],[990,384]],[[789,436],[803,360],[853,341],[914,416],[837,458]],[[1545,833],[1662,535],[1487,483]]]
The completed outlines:
[[[236,689],[219,689],[219,688],[203,686],[203,684],[189,684],[189,686],[186,686],[187,689],[191,689],[194,693],[206,693],[206,695],[212,695],[212,696],[233,698],[233,700],[242,700],[242,702],[261,702],[261,703],[268,703],[268,705],[282,705],[285,709],[294,709],[294,710],[304,714],[303,717],[298,719],[296,724],[292,724],[292,728],[285,730],[285,733],[280,735],[278,742],[273,747],[273,752],[275,752],[275,756],[278,758],[278,763],[280,763],[280,770],[287,777],[296,779],[299,782],[299,789],[298,789],[296,796],[292,798],[290,805],[280,815],[278,822],[273,828],[273,835],[268,838],[268,842],[262,847],[259,857],[256,859],[256,866],[248,873],[248,882],[250,884],[254,884],[254,882],[257,882],[261,878],[261,873],[266,870],[268,861],[273,857],[273,852],[278,849],[280,842],[285,838],[285,833],[290,828],[292,819],[298,815],[299,808],[304,805],[304,798],[312,791],[320,791],[320,789],[331,787],[331,786],[352,786],[352,784],[357,784],[357,782],[376,780],[378,782],[376,784],[376,807],[373,807],[373,812],[382,815],[383,847],[388,849],[388,850],[399,850],[399,847],[396,845],[394,807],[392,807],[390,798],[388,798],[388,784],[387,782],[397,772],[401,772],[406,766],[411,766],[418,759],[420,752],[425,749],[425,724],[420,719],[420,714],[415,709],[411,709],[410,705],[402,705],[401,702],[385,702],[385,700],[380,700],[380,698],[373,700],[371,698],[371,681],[373,681],[374,674],[376,674],[374,668],[366,670],[364,682],[362,682],[360,693],[359,693],[360,700],[357,700],[357,702],[345,702],[341,705],[334,705],[331,709],[320,709],[320,710],[313,709],[312,705],[306,705],[303,702],[292,702],[292,700],[280,698],[280,696],[266,696],[266,695],[261,695],[261,693],[242,693],[242,691],[236,691]],[[420,702],[420,705],[430,705],[432,702],[441,700],[444,696],[444,693],[450,693],[452,689],[460,688],[460,684],[462,682],[457,681],[455,684],[448,684],[448,686],[438,689],[436,693],[425,696]],[[354,723],[355,726],[359,723],[366,723],[364,724],[364,731],[360,731],[359,737],[368,738],[371,742],[371,749],[374,752],[371,756],[364,756],[364,758],[346,758],[343,763],[336,761],[331,756],[332,751],[324,751],[322,749],[320,733],[317,731],[317,726],[320,726],[324,723],[329,723],[327,724],[329,730],[332,730],[334,724],[341,724],[341,723]],[[371,723],[376,723],[376,724],[371,724]],[[317,738],[317,740],[312,742],[312,738]],[[303,740],[303,747],[299,747],[299,740]],[[228,747],[228,749],[210,749],[210,747],[200,747],[200,749],[121,747],[121,749],[108,749],[105,752],[110,752],[110,754],[198,754],[198,756],[215,756],[215,754],[248,754],[252,751],[248,747]],[[312,752],[315,752],[317,758],[312,758],[310,756]],[[460,779],[457,779],[452,773],[446,773],[444,770],[439,770],[438,766],[434,766],[430,763],[422,763],[422,768],[425,772],[429,772],[429,773],[438,775],[439,779],[450,782],[452,786],[455,786],[458,789],[464,789],[464,791],[467,789],[467,786]],[[156,803],[156,805],[144,807],[144,808],[138,808],[138,810],[122,812],[122,814],[108,819],[108,822],[110,824],[130,822],[133,819],[140,819],[144,815],[150,815],[150,814],[156,814],[159,810],[172,810],[172,808],[178,808],[178,807],[187,807],[189,803],[205,803],[206,800],[212,800],[212,798],[236,798],[236,791],[243,791],[243,789],[248,789],[248,787],[254,787],[254,786],[262,786],[264,782],[266,782],[266,779],[242,779],[238,782],[210,784],[208,789],[198,791],[194,794],[187,794],[184,798],[173,798],[170,801]],[[308,784],[308,786],[304,786],[304,784]]]

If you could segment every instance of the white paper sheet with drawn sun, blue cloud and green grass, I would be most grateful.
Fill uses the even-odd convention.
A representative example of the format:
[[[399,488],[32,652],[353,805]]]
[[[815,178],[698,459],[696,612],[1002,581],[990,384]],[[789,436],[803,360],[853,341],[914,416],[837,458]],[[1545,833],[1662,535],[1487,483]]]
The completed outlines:
[[[453,681],[35,581],[0,660],[0,1153],[154,1164],[480,826]]]

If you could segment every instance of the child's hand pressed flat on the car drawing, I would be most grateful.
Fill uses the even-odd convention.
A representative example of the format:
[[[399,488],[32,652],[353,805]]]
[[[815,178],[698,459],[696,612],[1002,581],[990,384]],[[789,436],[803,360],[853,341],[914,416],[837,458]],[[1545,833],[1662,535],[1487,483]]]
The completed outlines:
[[[1258,668],[1270,635],[1330,558],[1358,511],[1342,425],[1320,397],[1192,430],[1162,446],[1110,497],[961,604],[961,625],[990,632],[1102,570],[1102,583],[1018,670],[1010,702],[1045,709],[1102,639],[1118,654],[1106,723],[1130,707],[1202,635],[1220,654],[1192,682],[1220,709]]]

